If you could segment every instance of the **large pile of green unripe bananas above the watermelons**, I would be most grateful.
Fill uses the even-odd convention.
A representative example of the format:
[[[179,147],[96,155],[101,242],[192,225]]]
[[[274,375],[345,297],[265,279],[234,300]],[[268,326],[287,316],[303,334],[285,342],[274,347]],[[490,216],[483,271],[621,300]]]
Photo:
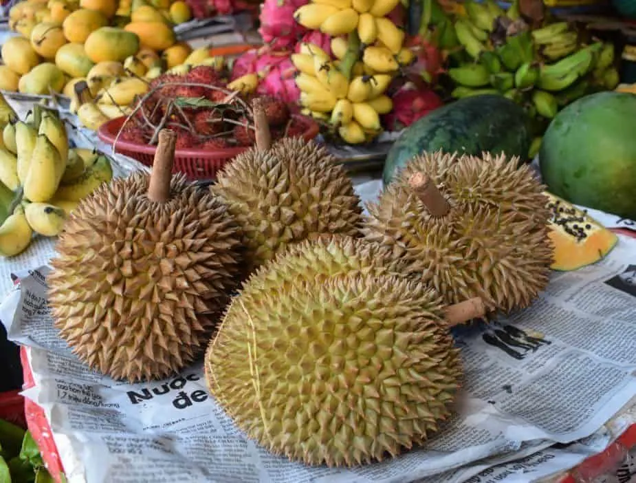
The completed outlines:
[[[464,10],[454,19],[463,56],[454,55],[455,65],[448,69],[456,86],[454,98],[506,96],[525,107],[541,136],[559,109],[591,92],[614,89],[619,82],[613,45],[585,43],[567,22],[531,29],[516,3],[505,12],[493,0],[467,1]]]

